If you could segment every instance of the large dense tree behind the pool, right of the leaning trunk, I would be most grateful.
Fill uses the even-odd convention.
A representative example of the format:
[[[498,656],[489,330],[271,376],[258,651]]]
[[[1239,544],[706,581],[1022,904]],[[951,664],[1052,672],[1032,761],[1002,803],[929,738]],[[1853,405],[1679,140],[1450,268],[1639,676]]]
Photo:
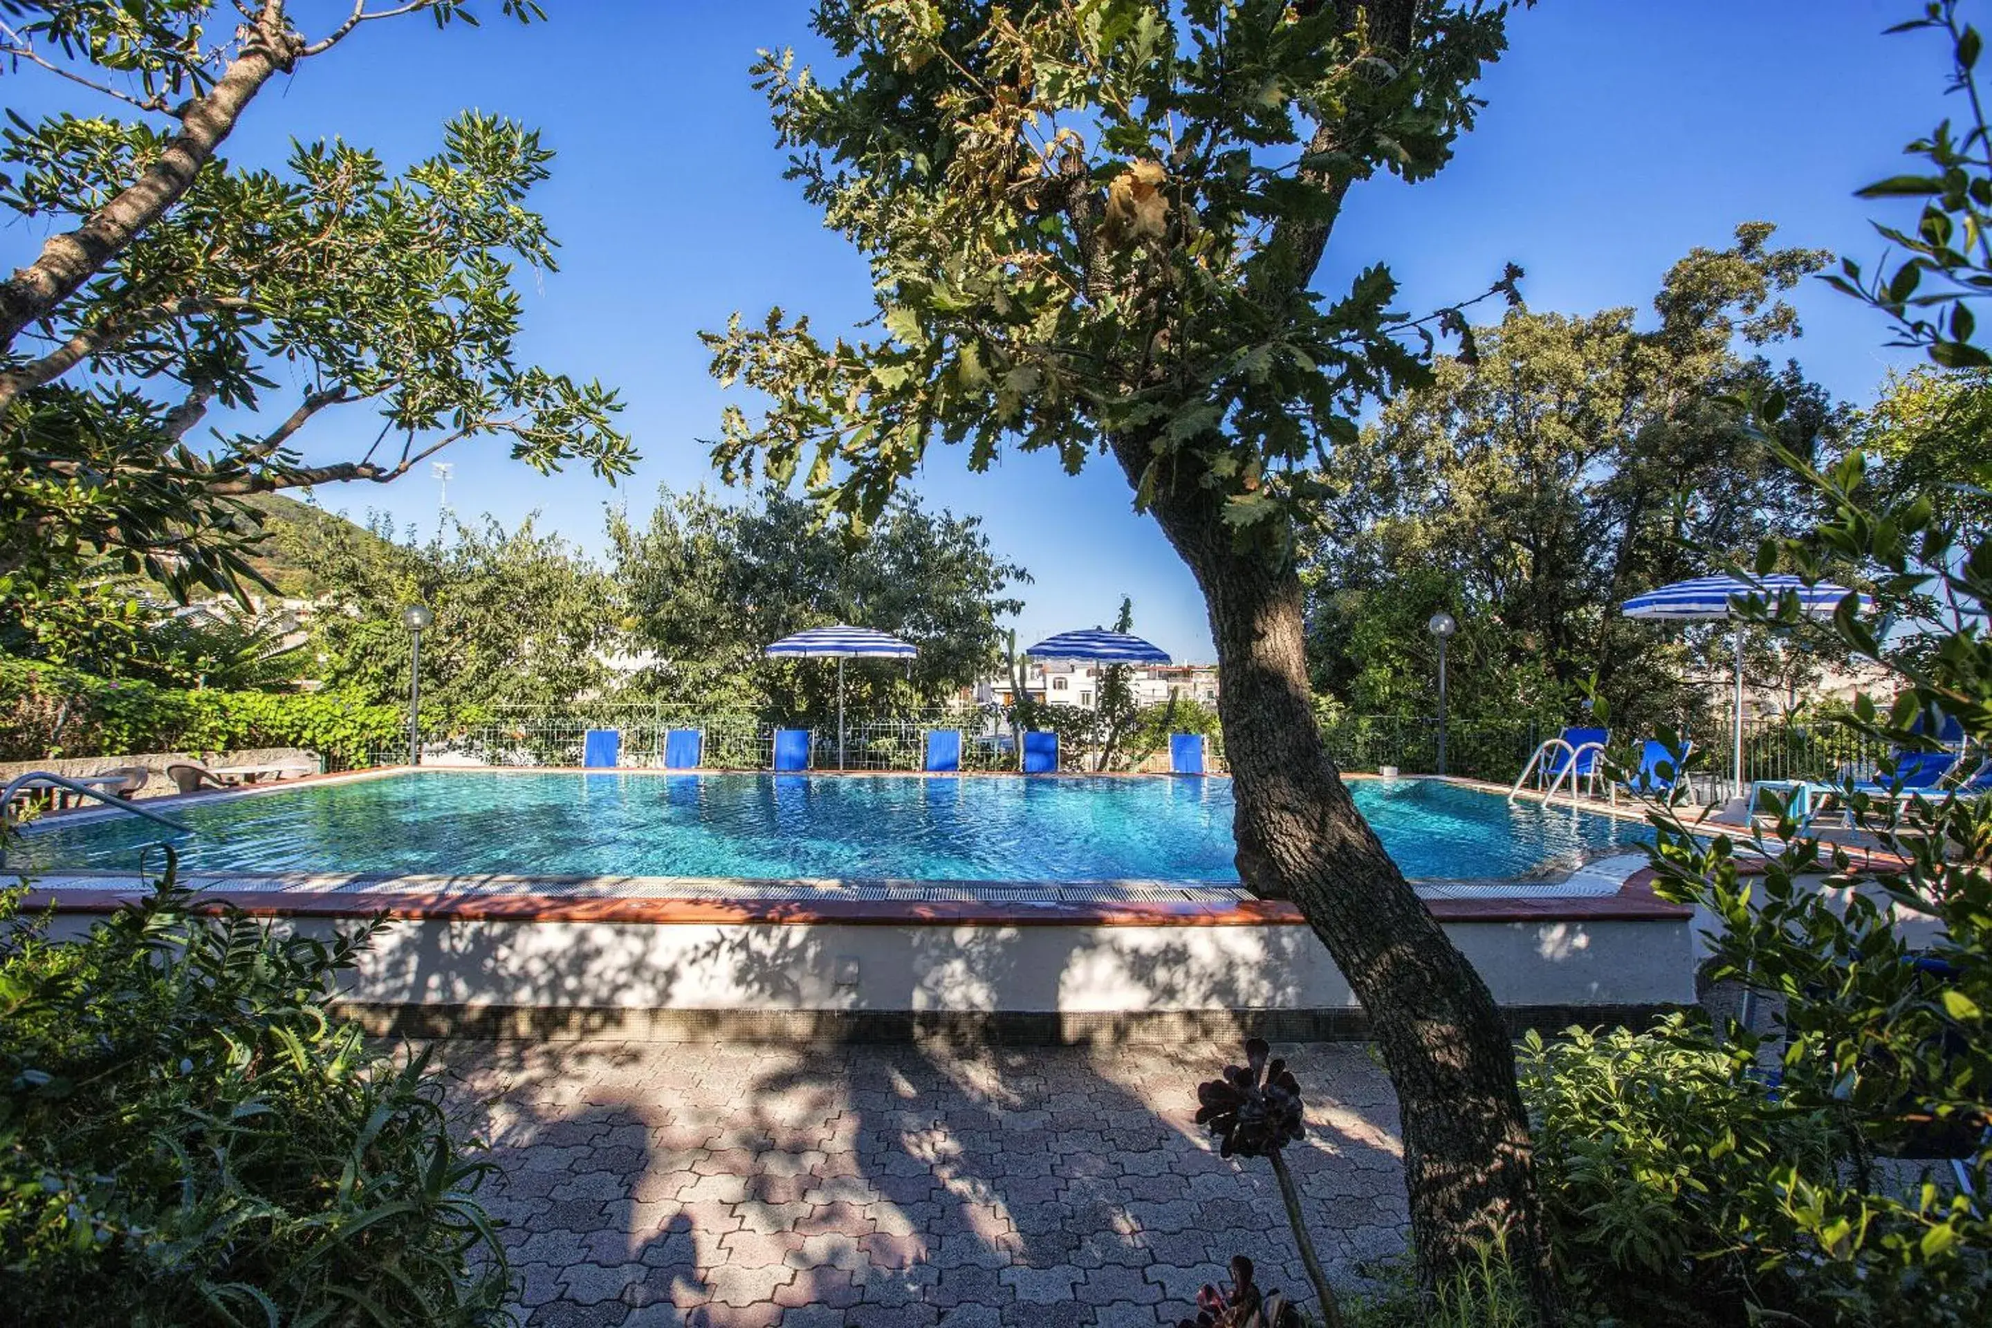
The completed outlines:
[[[1321,482],[1335,498],[1309,559],[1315,671],[1331,693],[1357,711],[1426,713],[1424,617],[1446,607],[1462,625],[1462,717],[1564,719],[1592,679],[1633,725],[1695,711],[1687,651],[1619,617],[1619,601],[1805,524],[1811,496],[1753,438],[1739,394],[1779,390],[1777,442],[1807,456],[1847,434],[1847,412],[1795,364],[1745,354],[1799,334],[1781,295],[1829,257],[1775,249],[1771,233],[1747,223],[1733,247],[1675,263],[1651,327],[1631,309],[1514,309],[1474,329],[1470,358],[1440,358],[1365,446],[1331,458]],[[1795,667],[1761,645],[1749,663],[1757,681]]]

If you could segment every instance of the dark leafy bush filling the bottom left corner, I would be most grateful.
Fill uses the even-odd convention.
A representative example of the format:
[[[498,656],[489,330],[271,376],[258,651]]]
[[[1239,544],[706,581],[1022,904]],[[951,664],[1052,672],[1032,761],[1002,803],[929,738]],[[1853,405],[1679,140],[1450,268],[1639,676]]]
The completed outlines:
[[[510,1270],[426,1053],[331,942],[163,884],[76,942],[0,908],[0,1268],[24,1324],[498,1324]]]

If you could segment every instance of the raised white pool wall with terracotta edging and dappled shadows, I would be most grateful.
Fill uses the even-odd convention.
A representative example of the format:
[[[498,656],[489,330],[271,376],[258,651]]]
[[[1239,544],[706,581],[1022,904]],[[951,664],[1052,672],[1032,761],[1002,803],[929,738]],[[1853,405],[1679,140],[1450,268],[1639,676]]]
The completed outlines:
[[[1637,1023],[1693,1001],[1695,962],[1689,910],[1655,898],[1643,864],[1643,854],[1618,854],[1550,882],[1418,890],[1516,1031]],[[396,924],[343,994],[380,1033],[1006,1043],[1367,1035],[1349,984],[1299,910],[1237,886],[363,874],[185,882],[315,934],[388,912]],[[34,884],[30,908],[54,906],[64,932],[141,890],[129,872],[44,874]]]

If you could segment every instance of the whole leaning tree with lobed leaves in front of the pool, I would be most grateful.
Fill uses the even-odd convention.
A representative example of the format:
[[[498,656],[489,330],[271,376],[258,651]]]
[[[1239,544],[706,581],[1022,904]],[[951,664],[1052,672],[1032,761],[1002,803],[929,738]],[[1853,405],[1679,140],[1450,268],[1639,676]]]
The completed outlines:
[[[1460,309],[1396,313],[1380,263],[1325,267],[1331,237],[1351,187],[1446,163],[1506,10],[825,0],[841,70],[767,54],[755,80],[871,263],[876,325],[827,340],[777,309],[707,340],[763,400],[727,410],[723,472],[801,478],[855,524],[936,442],[976,470],[1006,446],[1120,466],[1209,605],[1239,872],[1307,916],[1396,1085],[1422,1276],[1500,1236],[1548,1312],[1500,1011],[1321,743],[1297,567],[1309,472],[1422,378],[1434,332],[1466,332]]]

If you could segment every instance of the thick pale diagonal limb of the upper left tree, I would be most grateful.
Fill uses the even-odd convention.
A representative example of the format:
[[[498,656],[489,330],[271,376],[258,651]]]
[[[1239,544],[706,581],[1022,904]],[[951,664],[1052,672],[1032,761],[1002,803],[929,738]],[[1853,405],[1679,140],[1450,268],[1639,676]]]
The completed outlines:
[[[213,88],[179,111],[179,133],[165,141],[159,157],[84,225],[50,237],[34,263],[16,269],[0,285],[0,350],[12,346],[28,325],[52,317],[62,301],[179,203],[255,94],[279,70],[289,70],[303,48],[287,26],[281,4],[265,2],[257,20],[245,24],[241,34],[241,52]],[[0,380],[0,404],[18,390],[18,382]]]

